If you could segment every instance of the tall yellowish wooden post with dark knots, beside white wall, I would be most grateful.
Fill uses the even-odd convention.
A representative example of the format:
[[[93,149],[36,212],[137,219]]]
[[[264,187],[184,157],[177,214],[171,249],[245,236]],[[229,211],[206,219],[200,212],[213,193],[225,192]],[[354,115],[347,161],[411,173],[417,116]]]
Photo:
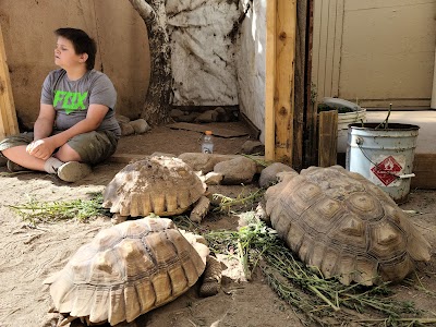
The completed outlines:
[[[292,166],[296,0],[267,2],[265,158]]]

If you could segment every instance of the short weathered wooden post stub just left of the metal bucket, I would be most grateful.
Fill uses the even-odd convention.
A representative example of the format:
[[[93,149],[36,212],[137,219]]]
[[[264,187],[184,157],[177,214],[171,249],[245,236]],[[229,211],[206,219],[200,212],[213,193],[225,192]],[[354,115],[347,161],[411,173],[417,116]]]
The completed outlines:
[[[338,111],[319,112],[318,166],[336,165],[338,147]]]

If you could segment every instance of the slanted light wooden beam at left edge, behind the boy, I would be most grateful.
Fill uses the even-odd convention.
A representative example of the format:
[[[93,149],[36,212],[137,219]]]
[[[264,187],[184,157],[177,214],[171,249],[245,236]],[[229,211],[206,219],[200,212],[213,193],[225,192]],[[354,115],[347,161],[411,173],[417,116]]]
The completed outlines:
[[[12,134],[17,134],[19,132],[11,78],[7,63],[7,52],[0,26],[0,140]]]

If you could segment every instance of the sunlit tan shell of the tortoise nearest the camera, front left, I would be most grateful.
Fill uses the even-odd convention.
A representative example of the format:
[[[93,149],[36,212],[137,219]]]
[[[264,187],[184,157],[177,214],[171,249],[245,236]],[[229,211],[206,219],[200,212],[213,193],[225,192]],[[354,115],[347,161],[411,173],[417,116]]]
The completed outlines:
[[[197,281],[209,253],[199,238],[167,218],[125,221],[101,230],[44,283],[62,314],[130,323]]]

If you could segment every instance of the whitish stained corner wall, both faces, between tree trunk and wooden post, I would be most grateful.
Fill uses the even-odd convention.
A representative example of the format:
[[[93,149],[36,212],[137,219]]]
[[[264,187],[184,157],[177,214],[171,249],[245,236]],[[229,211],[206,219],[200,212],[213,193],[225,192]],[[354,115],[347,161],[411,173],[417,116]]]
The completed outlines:
[[[264,141],[266,0],[169,0],[174,106],[231,106]],[[249,10],[246,10],[249,8]],[[246,12],[235,38],[234,23]]]

